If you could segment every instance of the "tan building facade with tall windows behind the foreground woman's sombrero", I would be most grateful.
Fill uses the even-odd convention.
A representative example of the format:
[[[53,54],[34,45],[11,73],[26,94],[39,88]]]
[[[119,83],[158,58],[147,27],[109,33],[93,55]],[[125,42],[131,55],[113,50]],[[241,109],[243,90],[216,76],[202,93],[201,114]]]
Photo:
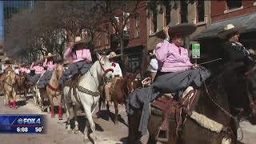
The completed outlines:
[[[165,4],[163,14],[151,14],[150,18],[147,18],[147,47],[149,51],[154,50],[158,42],[162,42],[162,39],[157,38],[155,34],[170,22],[188,22],[198,26],[194,34],[190,35],[190,39],[210,26],[211,1],[179,2],[177,9]],[[160,9],[160,6],[158,6],[158,9]]]

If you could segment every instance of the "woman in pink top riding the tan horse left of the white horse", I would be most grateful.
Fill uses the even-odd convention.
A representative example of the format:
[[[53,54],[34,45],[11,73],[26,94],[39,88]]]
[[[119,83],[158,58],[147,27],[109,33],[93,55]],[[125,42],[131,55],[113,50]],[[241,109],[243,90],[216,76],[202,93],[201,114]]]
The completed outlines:
[[[45,89],[47,82],[50,81],[51,75],[54,72],[54,57],[56,57],[57,55],[53,55],[48,53],[48,55],[46,56],[46,60],[45,62],[43,62],[43,66],[46,68],[46,72],[42,75],[42,77],[39,79],[38,82],[38,89]]]

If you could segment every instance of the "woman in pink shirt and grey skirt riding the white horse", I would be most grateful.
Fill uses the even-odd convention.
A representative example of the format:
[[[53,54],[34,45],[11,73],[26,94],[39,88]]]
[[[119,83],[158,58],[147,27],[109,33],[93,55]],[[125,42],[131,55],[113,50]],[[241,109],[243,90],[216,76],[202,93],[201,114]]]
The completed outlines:
[[[59,78],[59,86],[63,88],[64,82],[69,78],[73,80],[77,78],[79,74],[86,74],[90,69],[90,62],[92,61],[90,49],[85,46],[89,41],[82,40],[80,37],[75,38],[75,42],[70,42],[69,48],[65,52],[66,58],[71,58],[73,63],[70,64],[64,74]]]

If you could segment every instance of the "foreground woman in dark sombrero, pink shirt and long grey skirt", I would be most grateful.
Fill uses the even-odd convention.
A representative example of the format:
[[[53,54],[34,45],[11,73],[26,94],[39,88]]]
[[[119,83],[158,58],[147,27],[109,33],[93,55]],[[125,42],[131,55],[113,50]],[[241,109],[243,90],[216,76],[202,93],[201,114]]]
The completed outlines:
[[[126,112],[128,114],[133,114],[134,109],[143,106],[142,118],[139,123],[139,131],[143,135],[147,132],[150,116],[149,104],[159,94],[175,92],[174,98],[179,101],[188,86],[198,88],[202,81],[210,77],[207,70],[202,70],[198,65],[191,64],[188,50],[182,47],[183,38],[194,33],[196,28],[194,24],[184,23],[174,26],[169,24],[163,28],[165,39],[155,48],[158,72],[154,82],[149,87],[134,90],[134,93],[127,99]]]

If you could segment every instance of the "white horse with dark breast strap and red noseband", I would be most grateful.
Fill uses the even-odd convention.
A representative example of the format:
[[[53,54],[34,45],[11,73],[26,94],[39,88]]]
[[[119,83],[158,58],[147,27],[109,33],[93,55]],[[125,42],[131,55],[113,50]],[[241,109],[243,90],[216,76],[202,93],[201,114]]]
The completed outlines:
[[[78,82],[78,87],[76,87],[77,97],[74,96],[73,90],[71,90],[71,101],[74,103],[73,112],[74,112],[74,133],[78,133],[78,122],[77,122],[77,111],[80,106],[80,102],[86,113],[86,128],[84,130],[84,140],[88,138],[87,133],[89,127],[93,133],[94,143],[97,143],[96,134],[95,134],[95,124],[92,117],[95,107],[98,104],[100,94],[98,91],[100,83],[104,78],[110,79],[113,77],[113,70],[110,69],[110,61],[106,56],[101,56],[97,53],[98,61],[94,62],[94,65],[90,67],[90,70],[84,74],[81,78],[81,81]],[[70,87],[64,87],[63,94],[65,99],[66,106],[66,115],[67,115],[67,129],[70,131],[70,106],[66,102],[66,94],[69,93]],[[77,101],[80,101],[78,102]],[[80,100],[79,100],[80,99]],[[89,121],[89,123],[87,122]],[[89,125],[90,124],[90,125]]]

